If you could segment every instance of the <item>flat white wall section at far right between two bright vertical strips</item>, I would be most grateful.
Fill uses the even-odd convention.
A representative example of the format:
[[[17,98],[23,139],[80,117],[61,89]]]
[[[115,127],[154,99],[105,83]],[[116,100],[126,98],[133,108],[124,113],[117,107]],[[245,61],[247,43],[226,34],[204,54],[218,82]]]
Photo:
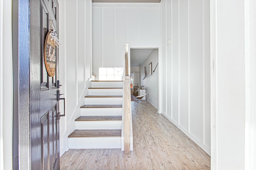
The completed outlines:
[[[218,1],[218,169],[244,169],[244,1]],[[235,135],[234,135],[235,134]]]

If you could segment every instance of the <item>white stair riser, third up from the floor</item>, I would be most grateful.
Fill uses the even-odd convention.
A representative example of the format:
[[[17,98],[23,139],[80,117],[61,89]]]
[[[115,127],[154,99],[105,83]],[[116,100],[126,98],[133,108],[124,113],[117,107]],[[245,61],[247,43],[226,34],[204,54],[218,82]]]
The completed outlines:
[[[122,116],[122,108],[81,108],[81,116]]]

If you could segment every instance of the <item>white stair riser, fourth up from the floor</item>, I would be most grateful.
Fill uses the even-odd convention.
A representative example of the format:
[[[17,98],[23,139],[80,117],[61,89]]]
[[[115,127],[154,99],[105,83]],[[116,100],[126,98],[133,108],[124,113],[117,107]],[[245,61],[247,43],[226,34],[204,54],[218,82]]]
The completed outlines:
[[[122,97],[85,97],[86,105],[122,105]]]

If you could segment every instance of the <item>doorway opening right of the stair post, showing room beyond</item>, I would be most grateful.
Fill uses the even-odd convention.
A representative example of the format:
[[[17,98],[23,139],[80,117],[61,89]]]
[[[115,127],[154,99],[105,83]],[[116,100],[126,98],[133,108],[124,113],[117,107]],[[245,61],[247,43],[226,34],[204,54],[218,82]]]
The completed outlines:
[[[158,48],[130,48],[131,93],[136,97],[140,88],[148,90],[148,101],[158,109]],[[142,87],[143,86],[143,87]]]

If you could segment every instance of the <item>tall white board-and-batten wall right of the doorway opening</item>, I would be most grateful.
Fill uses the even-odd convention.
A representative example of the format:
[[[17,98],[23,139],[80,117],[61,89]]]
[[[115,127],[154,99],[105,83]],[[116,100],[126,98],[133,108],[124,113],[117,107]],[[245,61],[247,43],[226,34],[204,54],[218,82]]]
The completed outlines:
[[[210,154],[210,0],[162,0],[162,110]]]

